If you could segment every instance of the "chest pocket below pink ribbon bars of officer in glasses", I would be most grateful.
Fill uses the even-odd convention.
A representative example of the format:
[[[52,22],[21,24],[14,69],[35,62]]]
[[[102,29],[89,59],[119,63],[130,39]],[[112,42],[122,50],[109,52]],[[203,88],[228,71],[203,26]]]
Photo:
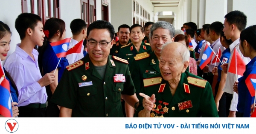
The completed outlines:
[[[113,102],[121,102],[121,92],[124,90],[124,83],[116,83],[113,85]]]

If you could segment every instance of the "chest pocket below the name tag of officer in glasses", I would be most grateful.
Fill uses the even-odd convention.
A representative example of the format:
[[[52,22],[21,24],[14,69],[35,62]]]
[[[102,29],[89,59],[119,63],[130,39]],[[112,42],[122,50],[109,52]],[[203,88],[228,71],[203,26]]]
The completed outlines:
[[[85,107],[91,107],[92,104],[97,102],[98,100],[98,90],[96,86],[85,86],[85,87],[79,87],[79,100],[81,105]]]

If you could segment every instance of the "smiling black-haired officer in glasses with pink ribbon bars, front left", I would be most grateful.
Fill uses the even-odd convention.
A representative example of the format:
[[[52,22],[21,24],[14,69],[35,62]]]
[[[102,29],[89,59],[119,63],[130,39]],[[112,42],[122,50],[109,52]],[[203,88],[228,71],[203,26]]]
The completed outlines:
[[[51,101],[60,117],[123,117],[122,98],[137,108],[127,60],[111,57],[114,28],[97,20],[87,29],[86,57],[67,66]]]

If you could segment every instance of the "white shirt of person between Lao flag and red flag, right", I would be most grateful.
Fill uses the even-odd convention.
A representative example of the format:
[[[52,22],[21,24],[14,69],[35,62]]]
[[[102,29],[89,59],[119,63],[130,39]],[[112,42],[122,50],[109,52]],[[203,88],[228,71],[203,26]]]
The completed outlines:
[[[215,42],[213,42],[212,43],[212,49],[213,49],[213,51],[215,52],[215,54],[218,54],[218,48],[221,48],[221,55],[222,55],[222,52],[226,49],[226,48],[224,48],[222,45],[221,45],[221,42],[220,42],[220,39],[218,38],[217,40],[215,40]],[[212,56],[212,60],[216,57],[216,55],[215,54],[213,54],[213,56]],[[212,64],[212,60],[211,60],[211,62],[210,62],[210,64],[209,64],[209,72],[212,72],[212,68],[214,68],[214,65],[215,65],[215,63],[213,63]],[[215,61],[213,61],[213,62],[215,62]],[[219,65],[219,62],[218,63],[216,63],[216,66],[218,66]]]

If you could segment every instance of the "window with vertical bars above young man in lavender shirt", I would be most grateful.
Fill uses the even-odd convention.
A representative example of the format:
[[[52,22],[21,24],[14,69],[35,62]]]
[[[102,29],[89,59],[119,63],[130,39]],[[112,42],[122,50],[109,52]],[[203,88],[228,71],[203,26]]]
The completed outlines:
[[[22,13],[40,16],[45,22],[51,17],[60,18],[60,0],[22,0]]]

